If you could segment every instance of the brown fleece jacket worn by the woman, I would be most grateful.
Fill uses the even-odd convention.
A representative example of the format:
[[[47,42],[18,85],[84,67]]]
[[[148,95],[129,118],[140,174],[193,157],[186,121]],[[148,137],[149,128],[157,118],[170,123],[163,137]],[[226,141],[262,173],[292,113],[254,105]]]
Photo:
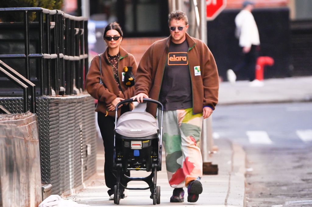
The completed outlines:
[[[134,56],[130,53],[127,53],[122,47],[119,46],[119,62],[118,62],[118,77],[122,93],[119,92],[118,85],[114,78],[113,66],[108,60],[108,49],[101,56],[101,66],[102,66],[102,81],[103,85],[100,84],[100,64],[99,56],[96,55],[90,65],[85,85],[88,93],[98,100],[95,111],[100,111],[106,114],[107,104],[110,104],[116,97],[128,99],[134,96],[135,88],[127,87],[122,81],[122,73],[124,72],[125,66],[131,66],[132,73],[135,77],[137,71],[137,64],[134,59]],[[120,108],[118,110],[120,114]],[[115,111],[108,111],[108,115],[115,117]],[[119,115],[118,115],[119,116]]]

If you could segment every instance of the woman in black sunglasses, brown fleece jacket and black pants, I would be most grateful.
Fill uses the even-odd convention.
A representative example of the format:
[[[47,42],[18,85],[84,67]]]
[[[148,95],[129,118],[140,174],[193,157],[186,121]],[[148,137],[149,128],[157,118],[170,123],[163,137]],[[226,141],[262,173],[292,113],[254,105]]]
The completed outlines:
[[[115,171],[113,171],[114,156],[114,129],[115,129],[115,107],[124,99],[134,96],[134,86],[127,86],[123,81],[124,67],[132,67],[135,77],[137,64],[132,54],[127,53],[120,47],[123,33],[118,23],[110,23],[105,27],[103,38],[107,49],[92,60],[86,78],[88,93],[98,100],[95,111],[98,112],[98,124],[103,138],[105,148],[105,183],[110,190],[109,200],[114,200],[114,186],[116,185]],[[101,62],[101,72],[100,64]],[[119,106],[118,116],[133,109],[133,103]],[[130,176],[130,172],[125,173]],[[123,176],[121,175],[121,178]],[[123,180],[121,180],[123,185]]]

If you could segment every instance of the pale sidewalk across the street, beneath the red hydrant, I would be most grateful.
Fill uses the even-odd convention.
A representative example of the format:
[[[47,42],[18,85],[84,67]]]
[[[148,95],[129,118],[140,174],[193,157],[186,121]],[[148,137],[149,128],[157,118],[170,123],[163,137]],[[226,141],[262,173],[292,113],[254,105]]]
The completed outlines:
[[[220,83],[218,105],[312,101],[312,76],[272,78],[263,87],[250,87],[249,81]]]

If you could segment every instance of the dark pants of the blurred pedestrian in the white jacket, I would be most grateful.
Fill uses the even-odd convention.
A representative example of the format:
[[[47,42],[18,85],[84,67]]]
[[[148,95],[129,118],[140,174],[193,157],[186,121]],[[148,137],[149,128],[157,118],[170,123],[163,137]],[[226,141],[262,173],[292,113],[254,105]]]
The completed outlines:
[[[233,68],[233,71],[237,76],[248,78],[249,81],[253,81],[255,79],[256,61],[258,58],[259,49],[259,46],[251,45],[250,51],[248,53],[242,54],[242,62]]]

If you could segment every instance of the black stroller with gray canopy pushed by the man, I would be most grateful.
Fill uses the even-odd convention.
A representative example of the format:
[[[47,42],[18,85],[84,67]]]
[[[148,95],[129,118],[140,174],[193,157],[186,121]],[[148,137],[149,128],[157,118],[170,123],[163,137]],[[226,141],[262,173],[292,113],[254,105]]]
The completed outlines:
[[[161,170],[163,118],[161,119],[160,132],[157,127],[157,120],[148,112],[129,111],[121,115],[117,121],[118,107],[121,104],[134,101],[136,100],[126,99],[120,101],[116,106],[113,169],[117,171],[117,183],[114,186],[114,203],[119,205],[119,200],[124,198],[124,189],[149,189],[153,205],[156,205],[160,204],[160,186],[156,186],[156,180],[157,171]],[[160,102],[147,98],[144,98],[143,102],[153,102],[161,106],[161,117],[163,117],[163,105]],[[158,138],[159,133],[160,138]],[[123,175],[123,180],[126,183],[145,181],[148,187],[128,188],[123,186],[120,183],[120,172],[127,172],[128,170],[151,172],[147,177]]]

